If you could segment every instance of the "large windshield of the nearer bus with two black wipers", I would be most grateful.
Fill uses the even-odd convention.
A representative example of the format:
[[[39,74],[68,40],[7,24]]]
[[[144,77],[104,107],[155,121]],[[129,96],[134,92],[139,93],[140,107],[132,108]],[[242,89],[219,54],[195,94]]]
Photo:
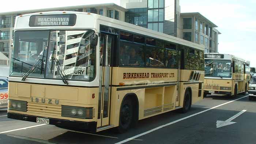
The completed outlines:
[[[90,37],[94,31],[17,31],[10,75],[61,79],[60,71],[69,80],[92,81],[95,76],[95,46]],[[58,61],[56,66],[53,60]]]

